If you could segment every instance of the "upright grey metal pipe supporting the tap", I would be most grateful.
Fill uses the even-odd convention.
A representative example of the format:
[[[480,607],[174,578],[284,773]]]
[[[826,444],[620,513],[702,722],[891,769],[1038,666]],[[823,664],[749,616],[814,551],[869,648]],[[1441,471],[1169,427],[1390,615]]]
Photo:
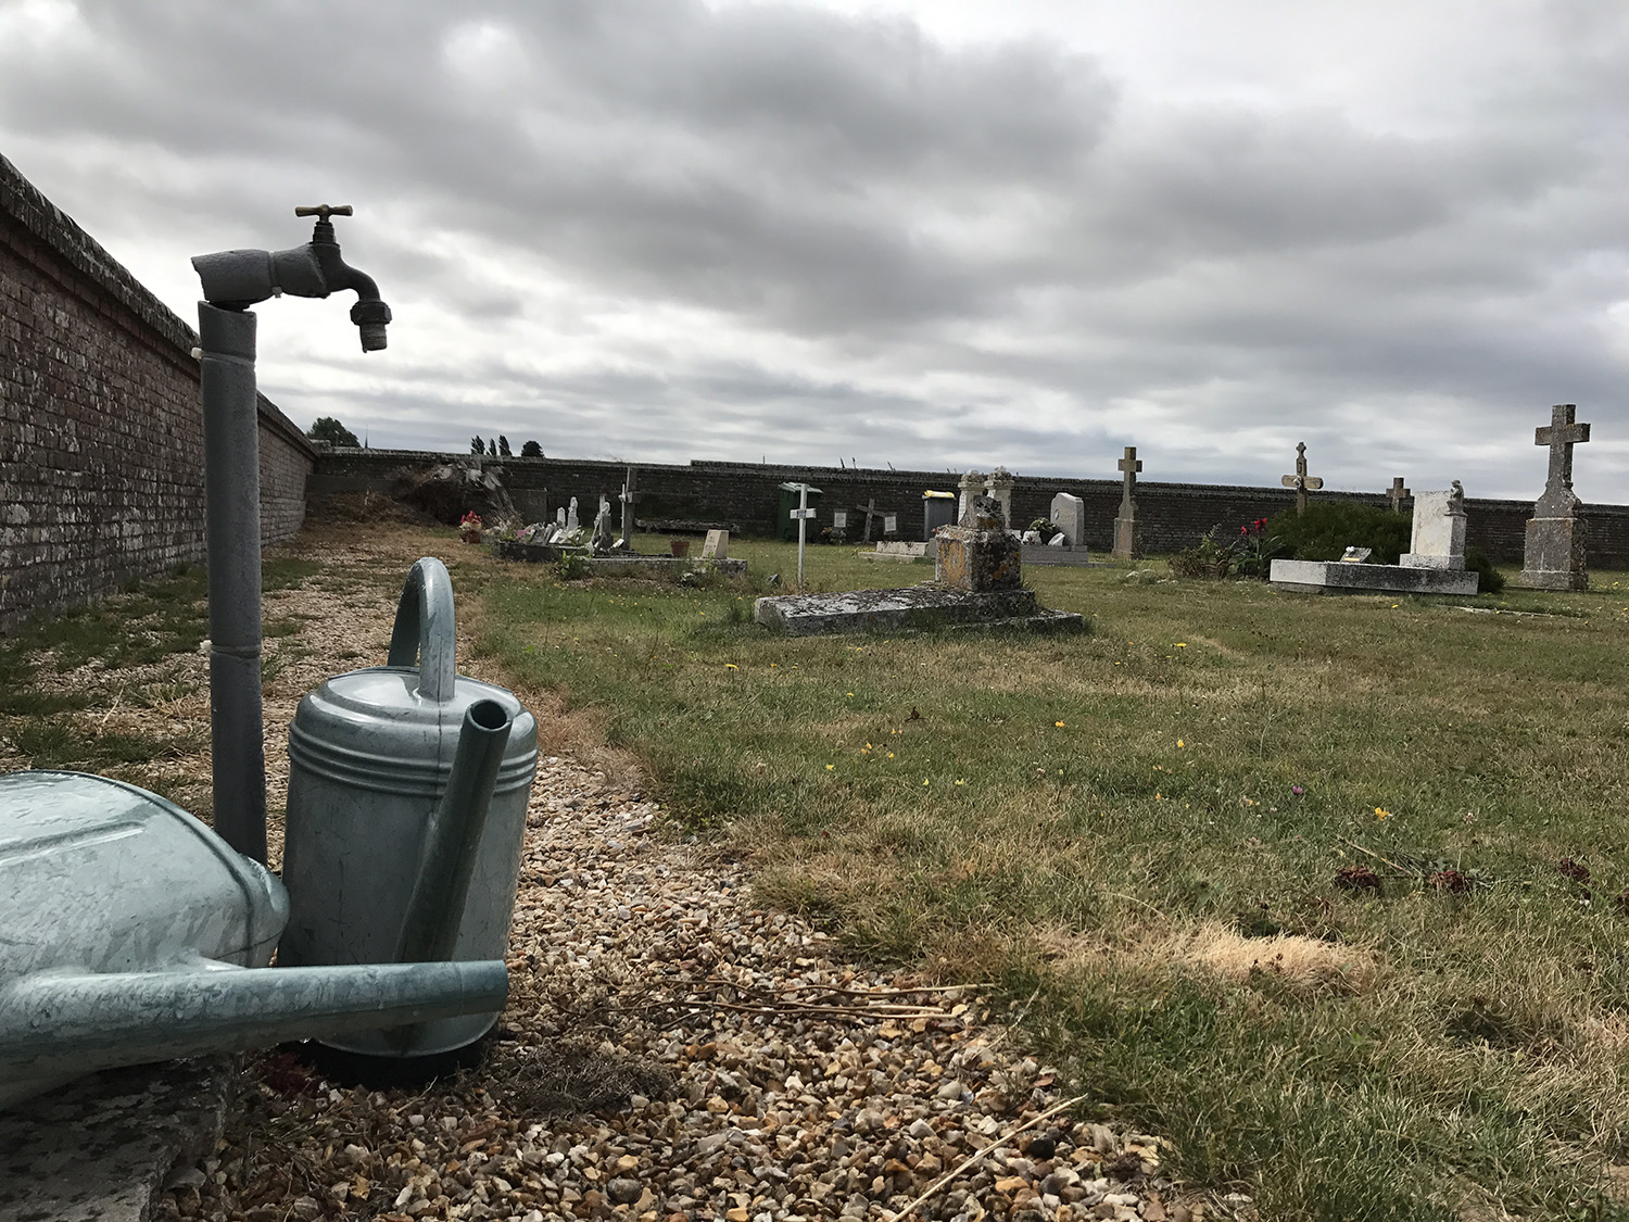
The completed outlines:
[[[266,864],[261,710],[261,438],[249,310],[199,301],[209,523],[209,689],[215,828]]]

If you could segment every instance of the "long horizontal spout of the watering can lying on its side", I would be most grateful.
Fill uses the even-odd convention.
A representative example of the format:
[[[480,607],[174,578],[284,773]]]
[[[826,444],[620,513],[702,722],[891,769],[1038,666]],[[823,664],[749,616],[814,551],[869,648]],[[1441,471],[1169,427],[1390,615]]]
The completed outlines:
[[[46,971],[0,987],[0,1108],[116,1066],[500,1009],[498,961]]]

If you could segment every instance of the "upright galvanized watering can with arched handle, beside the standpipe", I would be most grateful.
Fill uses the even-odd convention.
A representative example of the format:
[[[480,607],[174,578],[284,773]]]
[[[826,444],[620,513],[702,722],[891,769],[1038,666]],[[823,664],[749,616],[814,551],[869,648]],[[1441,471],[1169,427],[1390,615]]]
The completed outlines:
[[[453,583],[425,557],[386,665],[327,679],[288,727],[279,966],[503,960],[538,723],[454,671]],[[324,1040],[412,1057],[474,1043],[497,1012]]]

